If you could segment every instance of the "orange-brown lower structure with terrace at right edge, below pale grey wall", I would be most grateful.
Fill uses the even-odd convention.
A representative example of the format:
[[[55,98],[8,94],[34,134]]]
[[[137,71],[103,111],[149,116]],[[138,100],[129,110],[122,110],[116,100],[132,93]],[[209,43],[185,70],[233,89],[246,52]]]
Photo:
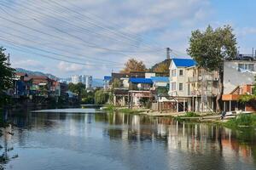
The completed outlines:
[[[256,111],[256,102],[239,102],[242,94],[253,94],[253,85],[245,84],[237,86],[230,92],[230,94],[223,94],[222,100],[224,101],[224,111]]]

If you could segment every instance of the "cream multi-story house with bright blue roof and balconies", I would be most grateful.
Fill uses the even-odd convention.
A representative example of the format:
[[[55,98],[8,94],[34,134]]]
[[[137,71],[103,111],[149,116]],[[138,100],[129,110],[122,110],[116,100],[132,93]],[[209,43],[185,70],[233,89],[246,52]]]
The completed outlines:
[[[218,93],[218,72],[206,71],[194,59],[172,59],[170,101],[176,111],[212,111]]]

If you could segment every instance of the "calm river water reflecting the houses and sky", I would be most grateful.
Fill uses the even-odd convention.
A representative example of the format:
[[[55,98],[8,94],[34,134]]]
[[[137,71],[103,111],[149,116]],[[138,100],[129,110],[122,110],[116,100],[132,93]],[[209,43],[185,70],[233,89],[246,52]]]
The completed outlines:
[[[15,126],[0,138],[5,169],[256,169],[255,129],[95,109],[21,111],[9,120]]]

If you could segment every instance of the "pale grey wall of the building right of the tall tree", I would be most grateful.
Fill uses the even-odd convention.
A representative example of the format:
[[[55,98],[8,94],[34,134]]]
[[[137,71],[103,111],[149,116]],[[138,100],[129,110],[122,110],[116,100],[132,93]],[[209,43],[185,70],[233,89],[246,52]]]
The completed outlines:
[[[237,86],[252,84],[255,71],[239,71],[238,64],[256,64],[255,61],[225,61],[224,62],[224,94],[230,94]]]

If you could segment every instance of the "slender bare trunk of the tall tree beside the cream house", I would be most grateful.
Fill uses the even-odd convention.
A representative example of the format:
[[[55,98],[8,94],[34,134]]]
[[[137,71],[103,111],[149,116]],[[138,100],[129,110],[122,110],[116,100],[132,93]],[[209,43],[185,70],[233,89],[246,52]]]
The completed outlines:
[[[218,95],[216,97],[216,112],[222,111],[221,99],[224,91],[224,71],[222,68],[218,71]]]

